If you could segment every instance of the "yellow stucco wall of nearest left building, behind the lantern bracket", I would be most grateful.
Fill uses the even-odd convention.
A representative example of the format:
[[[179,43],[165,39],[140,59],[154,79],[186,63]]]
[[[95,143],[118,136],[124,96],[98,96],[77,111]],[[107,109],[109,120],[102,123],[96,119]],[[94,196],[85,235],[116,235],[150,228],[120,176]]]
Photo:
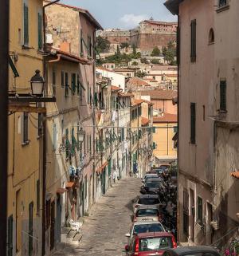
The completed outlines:
[[[13,77],[9,69],[9,89],[17,93],[30,92],[30,78],[39,69],[42,75],[42,55],[38,52],[38,12],[42,11],[41,0],[25,1],[29,7],[29,48],[23,44],[23,2],[10,1],[10,56],[14,60],[19,76]],[[37,114],[29,113],[29,144],[23,143],[22,112],[9,116],[9,165],[8,165],[8,216],[13,215],[14,233],[18,219],[18,255],[28,254],[29,203],[33,202],[33,234],[40,238],[40,216],[37,215],[37,180],[41,173],[41,138],[38,138]],[[16,193],[19,192],[18,202]],[[41,193],[40,193],[41,195]],[[18,218],[16,205],[18,205]],[[16,234],[13,250],[16,251]],[[33,239],[33,250],[38,254],[40,246]]]

